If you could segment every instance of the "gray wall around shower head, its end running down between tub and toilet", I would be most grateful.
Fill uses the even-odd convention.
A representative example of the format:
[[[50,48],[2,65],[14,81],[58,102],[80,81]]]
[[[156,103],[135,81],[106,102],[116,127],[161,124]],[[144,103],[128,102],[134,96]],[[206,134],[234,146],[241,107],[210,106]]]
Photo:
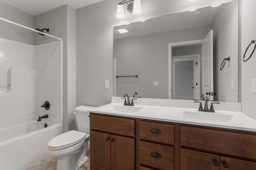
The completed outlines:
[[[64,5],[36,16],[36,28],[49,28],[49,34],[63,41],[63,130],[75,129],[76,107],[76,15],[75,9]],[[56,41],[36,35],[36,44]]]

